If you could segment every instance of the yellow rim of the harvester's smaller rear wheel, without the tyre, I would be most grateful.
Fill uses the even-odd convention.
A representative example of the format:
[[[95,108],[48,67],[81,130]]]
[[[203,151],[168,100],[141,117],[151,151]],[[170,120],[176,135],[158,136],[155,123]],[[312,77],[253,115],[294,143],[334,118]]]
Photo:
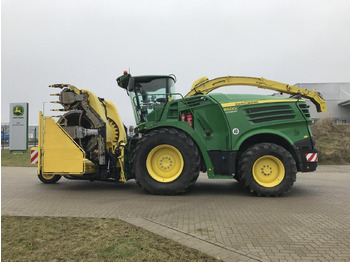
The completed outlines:
[[[284,165],[277,157],[266,155],[257,159],[253,165],[255,181],[263,187],[279,185],[285,175]]]

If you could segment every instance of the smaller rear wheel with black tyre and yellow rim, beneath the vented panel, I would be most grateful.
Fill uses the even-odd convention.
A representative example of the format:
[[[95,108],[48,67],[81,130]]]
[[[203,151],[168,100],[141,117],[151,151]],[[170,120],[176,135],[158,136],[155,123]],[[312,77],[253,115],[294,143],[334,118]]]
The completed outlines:
[[[292,155],[273,143],[248,148],[239,163],[241,184],[257,196],[280,196],[288,192],[296,180],[296,173]]]

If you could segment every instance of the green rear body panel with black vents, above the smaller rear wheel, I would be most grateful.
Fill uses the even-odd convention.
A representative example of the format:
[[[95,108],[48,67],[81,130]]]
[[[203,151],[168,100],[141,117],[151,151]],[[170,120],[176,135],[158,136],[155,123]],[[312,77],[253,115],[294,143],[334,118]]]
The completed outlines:
[[[290,144],[310,136],[296,99],[262,95],[211,96],[221,105],[233,102],[231,107],[223,107],[230,126],[231,150],[239,150],[244,140],[257,134],[275,134]]]

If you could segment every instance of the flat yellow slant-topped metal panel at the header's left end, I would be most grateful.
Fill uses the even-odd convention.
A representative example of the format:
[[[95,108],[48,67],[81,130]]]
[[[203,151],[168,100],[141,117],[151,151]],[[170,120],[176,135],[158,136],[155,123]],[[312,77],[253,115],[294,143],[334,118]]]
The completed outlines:
[[[83,174],[83,149],[52,118],[44,124],[43,173]]]

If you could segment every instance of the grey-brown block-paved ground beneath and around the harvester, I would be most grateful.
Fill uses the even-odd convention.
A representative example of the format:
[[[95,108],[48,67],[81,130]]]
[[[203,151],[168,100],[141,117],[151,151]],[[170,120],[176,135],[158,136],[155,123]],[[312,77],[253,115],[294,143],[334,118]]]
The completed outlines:
[[[299,173],[284,197],[258,198],[201,175],[192,191],[153,196],[127,184],[42,184],[2,167],[2,215],[120,218],[225,261],[350,261],[350,165]]]

